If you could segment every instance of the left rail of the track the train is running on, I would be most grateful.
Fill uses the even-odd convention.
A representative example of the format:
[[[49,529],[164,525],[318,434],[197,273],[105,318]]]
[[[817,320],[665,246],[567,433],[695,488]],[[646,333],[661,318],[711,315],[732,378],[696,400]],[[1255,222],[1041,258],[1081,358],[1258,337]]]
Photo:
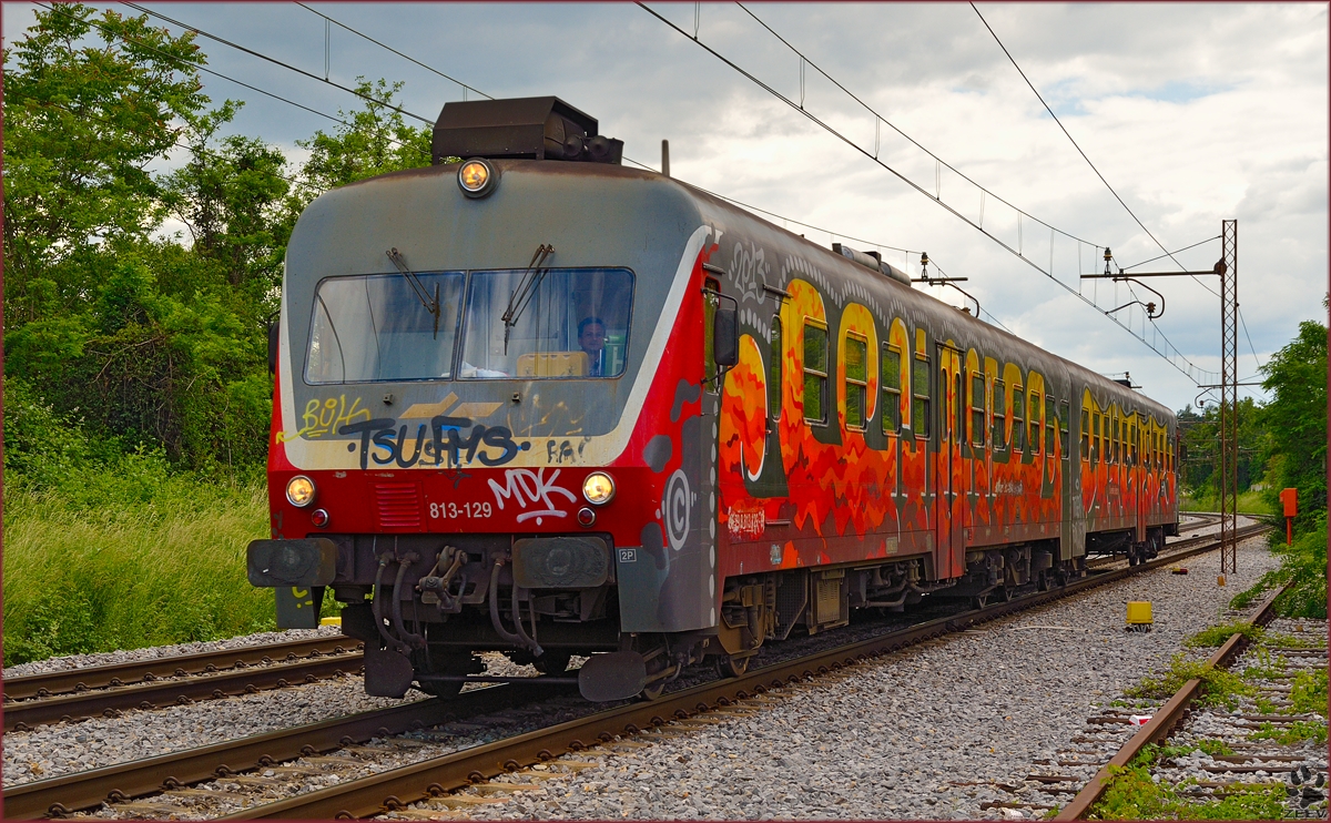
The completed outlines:
[[[417,700],[48,780],[21,783],[5,788],[4,818],[33,820],[43,816],[63,816],[96,808],[105,800],[124,802],[152,795],[351,743],[363,743],[375,736],[397,735],[438,726],[459,716],[498,711],[530,700],[532,696],[548,694],[550,688],[546,685],[539,688],[536,686],[476,688],[453,700],[435,698]]]

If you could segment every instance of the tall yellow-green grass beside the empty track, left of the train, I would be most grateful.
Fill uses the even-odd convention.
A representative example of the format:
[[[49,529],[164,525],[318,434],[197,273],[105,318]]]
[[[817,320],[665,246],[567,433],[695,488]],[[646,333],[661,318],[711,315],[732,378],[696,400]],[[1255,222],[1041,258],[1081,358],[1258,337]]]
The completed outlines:
[[[245,577],[266,537],[260,482],[226,485],[130,454],[60,486],[5,478],[4,663],[209,641],[274,627]]]

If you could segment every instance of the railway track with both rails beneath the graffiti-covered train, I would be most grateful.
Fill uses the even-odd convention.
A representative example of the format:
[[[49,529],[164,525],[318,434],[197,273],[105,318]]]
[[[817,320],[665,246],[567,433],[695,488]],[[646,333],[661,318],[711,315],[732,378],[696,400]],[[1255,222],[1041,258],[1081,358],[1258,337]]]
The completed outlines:
[[[1255,527],[1254,531],[1260,529],[1260,526]],[[741,711],[737,706],[741,703],[752,704],[752,700],[757,699],[755,695],[760,695],[768,688],[864,663],[905,646],[934,639],[952,631],[962,631],[977,623],[1115,582],[1130,574],[1159,569],[1185,557],[1214,549],[1214,541],[1211,545],[1191,546],[1133,569],[1123,567],[1093,574],[1062,590],[1038,593],[961,615],[937,618],[839,649],[767,666],[743,678],[684,688],[667,694],[656,702],[628,703],[375,774],[358,776],[347,774],[346,778],[339,776],[335,786],[276,802],[264,802],[264,794],[269,790],[282,791],[284,778],[326,774],[330,768],[341,770],[342,764],[347,764],[347,771],[354,772],[351,766],[362,766],[342,756],[326,756],[321,752],[351,748],[358,752],[357,759],[359,755],[374,751],[389,752],[399,744],[390,742],[369,750],[363,746],[358,747],[358,744],[375,736],[389,738],[413,728],[427,728],[450,718],[454,720],[461,718],[466,722],[466,718],[471,716],[475,722],[482,722],[487,719],[487,712],[504,711],[496,706],[512,708],[535,698],[539,687],[534,685],[532,690],[527,691],[526,686],[496,686],[466,692],[459,699],[447,703],[423,700],[383,712],[366,712],[353,718],[229,740],[206,748],[27,783],[4,792],[5,812],[11,819],[60,816],[110,802],[113,810],[125,807],[126,816],[162,816],[170,811],[169,807],[136,803],[134,798],[166,792],[190,800],[206,802],[208,798],[213,798],[230,803],[233,807],[236,803],[242,803],[244,806],[237,811],[222,815],[234,819],[369,816],[385,810],[401,808],[417,800],[442,796],[467,786],[488,786],[491,778],[542,763],[554,763],[555,771],[578,768],[578,766],[559,763],[564,752],[576,752],[615,742],[616,738],[631,738],[672,723],[705,722],[705,719],[696,719],[699,714]],[[539,686],[543,686],[544,690],[550,688],[546,685]],[[548,695],[548,691],[544,694]],[[498,703],[487,703],[491,699],[498,700]],[[620,740],[616,744],[628,746],[634,742]],[[418,748],[421,743],[402,743],[401,746]],[[543,768],[550,771],[548,766]],[[237,776],[237,772],[252,770],[261,770],[265,774],[249,778]],[[342,771],[337,774],[341,775]],[[221,783],[217,782],[218,778],[222,778]],[[186,788],[204,780],[212,780],[212,787]],[[246,783],[262,791],[257,795],[244,794],[241,790]],[[174,811],[192,816],[197,814],[184,807],[174,807]]]

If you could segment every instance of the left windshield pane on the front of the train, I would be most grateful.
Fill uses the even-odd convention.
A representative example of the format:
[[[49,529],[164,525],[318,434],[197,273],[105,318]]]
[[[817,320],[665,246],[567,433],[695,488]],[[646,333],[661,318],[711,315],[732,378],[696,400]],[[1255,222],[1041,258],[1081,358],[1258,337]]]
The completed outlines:
[[[429,272],[418,277],[430,306],[402,274],[334,277],[321,282],[314,294],[305,382],[453,377],[463,276]],[[431,310],[435,296],[438,313]]]

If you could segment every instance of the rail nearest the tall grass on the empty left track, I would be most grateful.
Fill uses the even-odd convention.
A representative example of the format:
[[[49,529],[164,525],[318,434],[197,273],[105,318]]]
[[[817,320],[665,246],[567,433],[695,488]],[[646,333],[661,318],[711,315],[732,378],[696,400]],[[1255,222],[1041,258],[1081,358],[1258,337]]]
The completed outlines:
[[[125,686],[128,683],[140,683],[164,677],[240,669],[250,663],[274,663],[282,659],[294,661],[323,654],[343,654],[362,647],[363,643],[361,641],[343,635],[314,638],[310,641],[286,641],[281,643],[265,643],[262,646],[241,646],[222,651],[200,651],[197,654],[181,654],[149,661],[29,674],[7,678],[0,687],[4,690],[4,700],[8,703],[9,700],[47,698],[89,688]]]

